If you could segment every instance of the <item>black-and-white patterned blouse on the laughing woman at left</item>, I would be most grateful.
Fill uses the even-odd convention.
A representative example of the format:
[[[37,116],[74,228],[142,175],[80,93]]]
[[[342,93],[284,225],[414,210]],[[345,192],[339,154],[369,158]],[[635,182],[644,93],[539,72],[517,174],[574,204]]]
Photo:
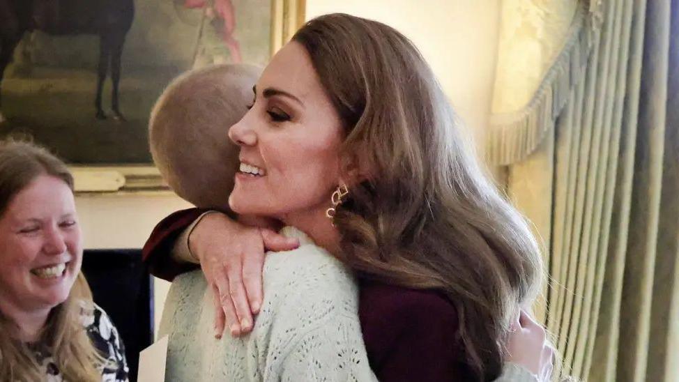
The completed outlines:
[[[107,360],[106,365],[101,367],[101,380],[128,382],[129,369],[128,362],[125,360],[125,346],[106,312],[96,304],[82,303],[80,322],[94,347]],[[66,382],[48,349],[36,344],[29,344],[29,348],[35,353],[38,365],[45,374],[46,382]]]

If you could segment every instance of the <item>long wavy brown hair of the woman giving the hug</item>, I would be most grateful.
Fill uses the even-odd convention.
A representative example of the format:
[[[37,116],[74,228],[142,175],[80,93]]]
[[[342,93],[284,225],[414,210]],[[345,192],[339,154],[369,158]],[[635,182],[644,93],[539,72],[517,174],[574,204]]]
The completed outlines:
[[[418,49],[390,26],[334,14],[305,47],[345,128],[343,158],[368,164],[335,215],[342,261],[363,277],[444,291],[479,380],[502,368],[519,303],[542,283],[531,230],[487,179]]]

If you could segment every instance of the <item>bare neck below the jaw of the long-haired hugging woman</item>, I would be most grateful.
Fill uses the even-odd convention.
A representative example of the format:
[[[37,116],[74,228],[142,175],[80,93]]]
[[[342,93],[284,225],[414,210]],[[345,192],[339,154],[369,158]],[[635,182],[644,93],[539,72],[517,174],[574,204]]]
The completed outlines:
[[[319,247],[323,247],[331,254],[339,254],[339,232],[333,226],[333,221],[326,216],[327,206],[321,206],[304,213],[291,213],[281,220],[291,227],[300,229],[314,240]]]

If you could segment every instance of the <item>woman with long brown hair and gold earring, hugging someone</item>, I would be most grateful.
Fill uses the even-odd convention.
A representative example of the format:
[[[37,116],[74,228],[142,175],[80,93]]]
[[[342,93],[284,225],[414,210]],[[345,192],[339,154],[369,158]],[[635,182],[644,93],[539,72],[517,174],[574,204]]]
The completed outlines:
[[[379,379],[501,374],[519,306],[542,283],[540,253],[468,152],[409,40],[349,15],[308,22],[260,77],[252,109],[229,136],[241,147],[229,206],[300,229],[353,270]],[[167,247],[160,242],[152,238],[147,254]],[[261,306],[243,268],[229,268],[228,287],[218,284],[236,334],[252,328],[247,303]]]

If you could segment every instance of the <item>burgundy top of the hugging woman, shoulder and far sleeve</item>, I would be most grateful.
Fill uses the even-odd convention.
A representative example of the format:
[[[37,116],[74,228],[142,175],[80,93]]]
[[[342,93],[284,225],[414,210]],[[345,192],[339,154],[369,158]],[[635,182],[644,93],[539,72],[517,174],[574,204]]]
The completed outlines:
[[[167,257],[181,231],[204,210],[165,217],[144,245],[153,275],[171,281],[189,269]],[[433,290],[359,280],[358,316],[370,367],[380,381],[474,381],[464,363],[457,312]]]

